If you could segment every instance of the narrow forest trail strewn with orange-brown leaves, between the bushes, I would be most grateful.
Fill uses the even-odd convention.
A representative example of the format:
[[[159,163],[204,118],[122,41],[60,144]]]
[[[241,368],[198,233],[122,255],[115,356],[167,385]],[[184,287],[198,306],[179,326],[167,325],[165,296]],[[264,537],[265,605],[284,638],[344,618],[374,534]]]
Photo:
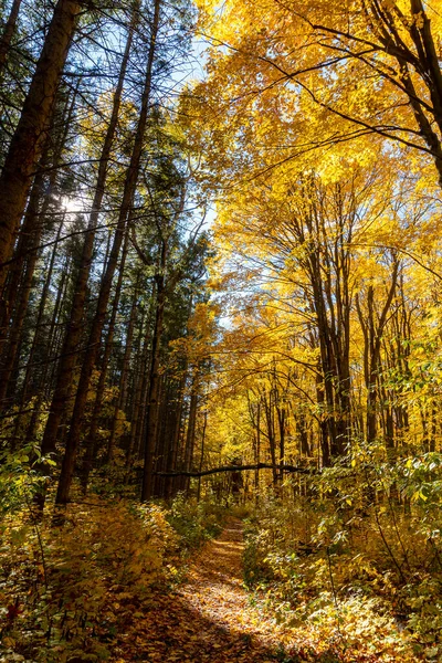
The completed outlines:
[[[190,564],[187,580],[137,619],[118,648],[119,663],[265,663],[303,661],[278,652],[277,630],[243,588],[243,527],[231,518]]]

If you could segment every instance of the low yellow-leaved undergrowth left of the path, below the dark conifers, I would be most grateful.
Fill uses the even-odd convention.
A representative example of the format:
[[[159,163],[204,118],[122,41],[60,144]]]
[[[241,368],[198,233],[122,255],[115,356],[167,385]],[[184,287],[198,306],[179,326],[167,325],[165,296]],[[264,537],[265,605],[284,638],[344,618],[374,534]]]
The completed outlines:
[[[219,532],[220,517],[182,496],[169,507],[88,497],[69,506],[63,527],[51,526],[50,511],[36,523],[29,508],[15,509],[1,528],[0,654],[107,660],[155,592],[182,578],[188,555]]]

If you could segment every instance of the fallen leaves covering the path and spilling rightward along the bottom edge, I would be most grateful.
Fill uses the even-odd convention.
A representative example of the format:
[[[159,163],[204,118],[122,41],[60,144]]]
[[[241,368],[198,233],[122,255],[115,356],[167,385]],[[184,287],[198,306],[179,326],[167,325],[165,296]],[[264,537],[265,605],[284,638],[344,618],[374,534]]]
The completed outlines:
[[[243,587],[242,524],[231,519],[190,565],[186,583],[157,593],[115,648],[113,663],[282,663],[417,661],[400,654],[351,651],[338,629],[328,639],[315,624],[277,624]],[[411,650],[410,650],[411,651]]]

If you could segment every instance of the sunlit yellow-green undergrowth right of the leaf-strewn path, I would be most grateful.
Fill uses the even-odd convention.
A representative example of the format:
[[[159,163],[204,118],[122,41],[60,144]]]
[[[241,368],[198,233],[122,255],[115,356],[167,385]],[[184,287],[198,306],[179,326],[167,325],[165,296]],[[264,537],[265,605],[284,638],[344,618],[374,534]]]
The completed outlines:
[[[325,652],[343,662],[442,661],[441,514],[439,497],[429,498],[439,480],[422,469],[430,460],[383,493],[371,476],[370,505],[367,484],[339,469],[304,496],[287,483],[284,498],[261,499],[246,522],[244,580],[285,624],[287,642],[313,638],[318,661]]]

